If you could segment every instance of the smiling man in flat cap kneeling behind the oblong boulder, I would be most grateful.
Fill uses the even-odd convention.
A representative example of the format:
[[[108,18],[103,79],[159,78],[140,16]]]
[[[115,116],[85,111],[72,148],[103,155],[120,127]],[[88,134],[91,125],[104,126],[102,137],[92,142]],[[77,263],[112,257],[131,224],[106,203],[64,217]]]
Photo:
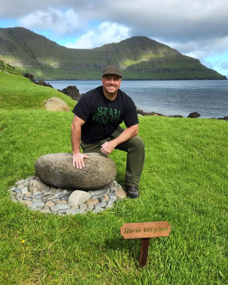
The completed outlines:
[[[133,100],[119,89],[121,71],[116,66],[103,70],[99,86],[86,92],[73,109],[71,145],[73,166],[82,169],[83,154],[109,155],[114,149],[127,152],[125,182],[130,198],[139,196],[138,186],[144,164],[144,143],[138,134],[138,116]],[[119,127],[124,122],[126,129]],[[80,141],[83,153],[80,153]]]

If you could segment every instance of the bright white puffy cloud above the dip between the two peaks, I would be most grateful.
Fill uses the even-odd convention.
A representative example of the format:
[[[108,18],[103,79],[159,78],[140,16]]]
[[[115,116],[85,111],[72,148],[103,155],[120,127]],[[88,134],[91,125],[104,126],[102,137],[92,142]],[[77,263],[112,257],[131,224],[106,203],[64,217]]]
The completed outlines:
[[[100,47],[105,43],[119,42],[129,37],[130,29],[116,23],[103,22],[96,31],[90,30],[74,43],[66,43],[70,48]]]

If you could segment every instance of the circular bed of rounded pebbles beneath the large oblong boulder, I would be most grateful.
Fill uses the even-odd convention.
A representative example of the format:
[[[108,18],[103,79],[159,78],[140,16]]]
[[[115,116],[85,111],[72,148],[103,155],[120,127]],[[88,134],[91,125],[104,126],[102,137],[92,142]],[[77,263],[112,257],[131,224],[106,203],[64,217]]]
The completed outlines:
[[[36,188],[34,188],[34,185]],[[108,186],[100,189],[79,190],[80,197],[74,197],[76,201],[74,201],[73,206],[71,201],[70,206],[68,200],[75,190],[50,186],[43,183],[37,176],[31,176],[27,179],[17,181],[15,186],[9,189],[9,192],[13,201],[26,205],[30,210],[60,216],[79,213],[85,214],[88,211],[98,213],[112,208],[117,200],[126,198],[126,193],[123,191],[122,186],[113,180]],[[84,200],[83,194],[85,195]],[[85,199],[87,200],[85,201]],[[81,203],[80,201],[85,202]]]

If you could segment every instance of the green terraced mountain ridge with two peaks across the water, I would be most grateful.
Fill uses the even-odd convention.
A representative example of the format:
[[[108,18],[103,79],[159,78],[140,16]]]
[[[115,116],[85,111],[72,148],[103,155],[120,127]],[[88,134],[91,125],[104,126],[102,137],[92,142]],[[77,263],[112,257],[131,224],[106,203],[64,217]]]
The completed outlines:
[[[123,79],[226,79],[198,59],[145,36],[93,49],[62,47],[25,28],[0,28],[0,56],[22,73],[45,79],[100,79],[117,65]]]

